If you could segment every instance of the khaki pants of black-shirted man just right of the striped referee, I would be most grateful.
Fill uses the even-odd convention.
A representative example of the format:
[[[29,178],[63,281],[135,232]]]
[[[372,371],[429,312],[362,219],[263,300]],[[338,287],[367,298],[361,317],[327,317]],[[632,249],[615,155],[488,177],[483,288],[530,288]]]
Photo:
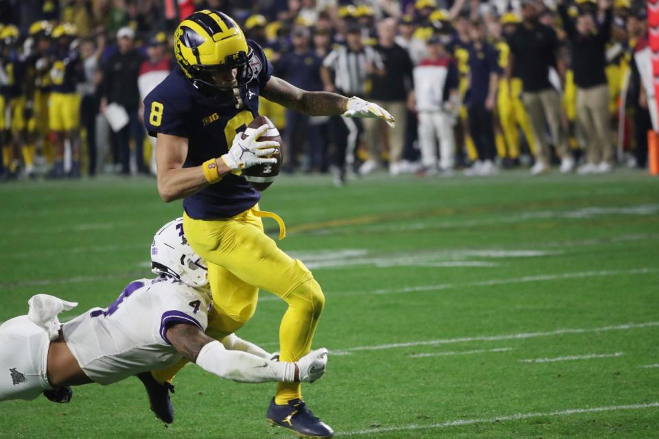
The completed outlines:
[[[385,110],[389,111],[396,120],[396,128],[389,128],[386,122],[380,119],[363,119],[366,132],[366,141],[369,145],[369,160],[380,161],[380,151],[378,150],[378,141],[380,133],[391,132],[389,141],[389,163],[400,162],[403,155],[403,146],[405,143],[405,128],[407,124],[407,107],[405,101],[371,101],[378,104]]]

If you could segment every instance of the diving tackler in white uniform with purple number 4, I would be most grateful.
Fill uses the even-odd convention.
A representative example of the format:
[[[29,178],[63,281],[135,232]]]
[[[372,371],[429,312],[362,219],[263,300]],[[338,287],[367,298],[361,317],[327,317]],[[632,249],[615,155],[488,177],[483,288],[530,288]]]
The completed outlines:
[[[151,246],[154,279],[128,284],[108,308],[93,308],[60,324],[58,313],[78,305],[47,294],[33,296],[30,312],[0,326],[0,401],[44,394],[71,400],[71,385],[108,385],[181,357],[219,377],[246,383],[312,382],[325,372],[327,350],[295,363],[234,334],[222,342],[205,335],[211,293],[204,261],[187,244],[183,219],[166,224]],[[169,400],[167,399],[169,403]]]

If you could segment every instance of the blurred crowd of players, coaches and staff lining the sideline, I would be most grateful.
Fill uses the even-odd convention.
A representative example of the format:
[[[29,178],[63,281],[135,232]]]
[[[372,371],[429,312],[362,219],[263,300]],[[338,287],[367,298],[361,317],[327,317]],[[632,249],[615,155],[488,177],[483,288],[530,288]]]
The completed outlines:
[[[332,171],[342,185],[378,169],[647,167],[644,3],[4,0],[1,178],[154,174],[141,99],[176,69],[176,25],[202,9],[237,20],[280,78],[369,99],[397,121],[308,117],[262,98],[286,172]]]

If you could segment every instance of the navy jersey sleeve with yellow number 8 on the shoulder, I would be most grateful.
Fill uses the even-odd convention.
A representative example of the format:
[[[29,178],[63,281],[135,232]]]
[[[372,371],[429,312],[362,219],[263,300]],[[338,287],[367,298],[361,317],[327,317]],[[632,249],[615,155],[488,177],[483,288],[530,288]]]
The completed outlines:
[[[170,73],[176,75],[176,72]],[[167,93],[170,82],[165,79],[144,98],[144,126],[150,136],[157,133],[189,137],[185,115],[187,99],[181,93]],[[174,91],[176,92],[176,91]]]

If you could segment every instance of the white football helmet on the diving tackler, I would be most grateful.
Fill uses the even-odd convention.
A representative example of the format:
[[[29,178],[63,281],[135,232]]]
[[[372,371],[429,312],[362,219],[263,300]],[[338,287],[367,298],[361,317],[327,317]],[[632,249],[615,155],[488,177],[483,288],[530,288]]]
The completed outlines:
[[[206,261],[187,244],[183,218],[168,222],[153,237],[151,271],[174,276],[189,287],[208,285]]]

